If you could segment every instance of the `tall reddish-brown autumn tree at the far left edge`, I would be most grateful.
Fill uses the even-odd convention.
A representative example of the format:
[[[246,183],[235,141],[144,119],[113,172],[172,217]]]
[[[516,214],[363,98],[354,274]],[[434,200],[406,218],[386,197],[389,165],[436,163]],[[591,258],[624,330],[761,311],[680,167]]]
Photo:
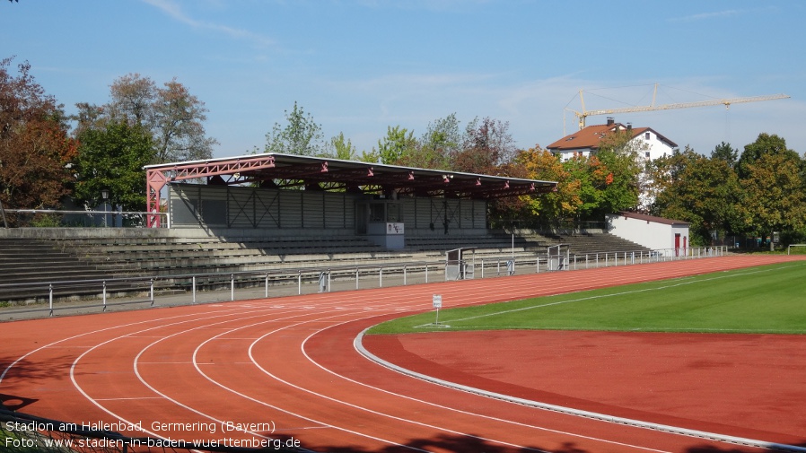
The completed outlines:
[[[69,194],[75,142],[65,113],[31,75],[31,65],[9,72],[0,60],[0,201],[6,208],[59,207]]]

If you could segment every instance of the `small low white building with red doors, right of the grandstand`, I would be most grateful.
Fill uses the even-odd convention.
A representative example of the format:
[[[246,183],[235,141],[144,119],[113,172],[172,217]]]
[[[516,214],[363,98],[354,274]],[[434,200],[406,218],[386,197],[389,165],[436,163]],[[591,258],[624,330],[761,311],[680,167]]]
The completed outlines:
[[[663,257],[685,255],[689,247],[688,222],[642,213],[611,213],[607,220],[610,234],[657,250]]]

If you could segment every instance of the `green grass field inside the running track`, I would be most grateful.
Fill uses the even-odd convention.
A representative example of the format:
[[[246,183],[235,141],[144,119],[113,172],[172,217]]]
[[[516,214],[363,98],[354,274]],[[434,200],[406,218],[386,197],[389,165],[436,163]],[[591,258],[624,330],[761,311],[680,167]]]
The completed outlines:
[[[806,262],[442,309],[368,334],[433,330],[563,329],[806,334]]]

